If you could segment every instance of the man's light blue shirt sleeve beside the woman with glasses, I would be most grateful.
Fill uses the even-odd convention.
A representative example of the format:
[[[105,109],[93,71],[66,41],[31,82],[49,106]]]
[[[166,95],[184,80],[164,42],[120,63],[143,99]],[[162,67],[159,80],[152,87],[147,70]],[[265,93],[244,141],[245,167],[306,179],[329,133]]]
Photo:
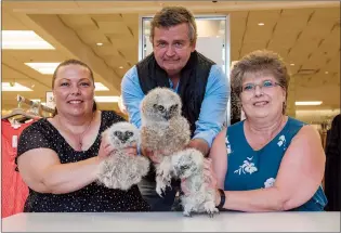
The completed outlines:
[[[222,130],[226,120],[229,92],[227,76],[218,65],[213,65],[209,74],[200,115],[196,121],[196,130],[194,132],[194,139],[204,139],[209,144],[209,147],[211,147],[214,138]]]

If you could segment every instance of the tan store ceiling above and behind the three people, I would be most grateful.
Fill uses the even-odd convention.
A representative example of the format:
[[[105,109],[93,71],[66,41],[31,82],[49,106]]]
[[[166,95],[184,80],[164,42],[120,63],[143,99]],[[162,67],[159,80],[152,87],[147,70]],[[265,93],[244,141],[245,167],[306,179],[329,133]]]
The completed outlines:
[[[299,109],[340,108],[340,2],[336,1],[2,1],[2,30],[35,30],[56,48],[2,50],[2,81],[34,87],[32,92],[2,92],[2,108],[15,107],[16,94],[44,101],[51,91],[51,75],[41,75],[26,62],[79,59],[92,67],[96,81],[109,88],[96,95],[119,95],[122,76],[139,60],[139,17],[163,5],[184,5],[200,15],[228,14],[231,61],[258,49],[276,51],[294,79],[294,99],[323,101],[320,106]],[[100,107],[118,109],[113,103]]]

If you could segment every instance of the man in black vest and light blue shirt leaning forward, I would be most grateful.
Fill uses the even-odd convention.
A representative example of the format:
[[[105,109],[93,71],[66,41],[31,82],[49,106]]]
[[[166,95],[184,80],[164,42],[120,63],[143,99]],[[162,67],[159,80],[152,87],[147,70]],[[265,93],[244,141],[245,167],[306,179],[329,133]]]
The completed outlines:
[[[229,85],[218,65],[195,51],[196,39],[195,18],[188,10],[167,7],[157,12],[150,28],[153,53],[124,75],[121,92],[130,121],[139,128],[140,103],[149,90],[168,87],[178,92],[182,114],[191,125],[188,146],[208,155],[226,119]],[[150,155],[145,148],[142,153]],[[176,189],[168,191],[165,198],[159,197],[155,192],[155,173],[141,182],[140,190],[152,210],[171,209]]]

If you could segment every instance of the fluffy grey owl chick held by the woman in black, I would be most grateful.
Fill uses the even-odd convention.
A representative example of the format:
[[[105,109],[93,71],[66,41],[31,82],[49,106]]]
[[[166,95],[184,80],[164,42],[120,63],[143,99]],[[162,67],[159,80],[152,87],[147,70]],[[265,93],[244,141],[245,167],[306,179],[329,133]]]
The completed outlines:
[[[130,156],[122,151],[140,142],[140,132],[129,122],[117,122],[105,130],[106,138],[117,151],[100,165],[97,181],[109,189],[129,190],[149,170],[149,160],[143,156]]]

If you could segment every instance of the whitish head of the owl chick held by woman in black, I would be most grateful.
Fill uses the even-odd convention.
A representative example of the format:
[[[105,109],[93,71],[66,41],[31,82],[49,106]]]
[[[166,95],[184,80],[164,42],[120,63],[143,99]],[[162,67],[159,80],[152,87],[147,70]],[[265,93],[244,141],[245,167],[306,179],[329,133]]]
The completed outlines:
[[[117,122],[105,130],[103,137],[106,137],[108,142],[119,150],[132,144],[139,144],[140,131],[130,122]]]

